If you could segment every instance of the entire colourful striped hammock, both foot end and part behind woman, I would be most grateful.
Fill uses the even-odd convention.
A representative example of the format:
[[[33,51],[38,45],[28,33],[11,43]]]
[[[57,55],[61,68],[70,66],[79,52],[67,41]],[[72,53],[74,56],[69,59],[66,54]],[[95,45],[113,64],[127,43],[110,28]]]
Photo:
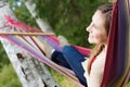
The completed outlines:
[[[130,0],[117,0],[113,8],[108,49],[101,87],[122,87],[130,80]],[[10,26],[17,33],[0,33],[0,37],[21,47],[36,59],[82,86],[73,71],[52,62],[46,57],[42,44],[44,40],[54,49],[62,51],[58,40],[53,34],[43,33],[38,28],[12,20],[8,15],[5,15],[5,20],[4,27]],[[90,49],[72,46],[83,55],[90,54]]]

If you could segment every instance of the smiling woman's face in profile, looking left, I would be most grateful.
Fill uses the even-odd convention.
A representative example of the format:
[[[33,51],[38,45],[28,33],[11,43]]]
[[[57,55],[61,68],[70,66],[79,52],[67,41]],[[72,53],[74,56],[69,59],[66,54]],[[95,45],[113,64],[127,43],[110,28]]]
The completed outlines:
[[[92,22],[87,27],[87,32],[89,32],[88,40],[90,44],[106,44],[105,16],[100,10],[92,16]]]

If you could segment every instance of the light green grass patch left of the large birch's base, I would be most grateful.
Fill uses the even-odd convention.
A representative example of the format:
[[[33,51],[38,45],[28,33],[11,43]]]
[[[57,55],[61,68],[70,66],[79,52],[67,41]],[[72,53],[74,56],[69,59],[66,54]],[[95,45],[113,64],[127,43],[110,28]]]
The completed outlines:
[[[4,65],[0,72],[0,87],[22,87],[11,64]]]

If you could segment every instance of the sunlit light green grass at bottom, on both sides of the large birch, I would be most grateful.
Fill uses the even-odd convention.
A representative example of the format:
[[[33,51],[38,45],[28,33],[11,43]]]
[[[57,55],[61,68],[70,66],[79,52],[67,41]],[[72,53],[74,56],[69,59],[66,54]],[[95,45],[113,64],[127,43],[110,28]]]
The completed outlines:
[[[55,72],[50,67],[48,69],[61,87],[79,87],[76,83],[63,76],[58,72]],[[4,65],[0,72],[0,87],[22,87],[11,64]],[[125,87],[130,87],[130,82]]]

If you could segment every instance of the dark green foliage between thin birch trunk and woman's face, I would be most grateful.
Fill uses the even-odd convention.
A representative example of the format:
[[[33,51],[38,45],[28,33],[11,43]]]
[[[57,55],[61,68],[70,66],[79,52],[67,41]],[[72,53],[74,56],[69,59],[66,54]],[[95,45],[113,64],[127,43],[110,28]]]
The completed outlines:
[[[39,16],[50,23],[56,35],[64,35],[69,42],[88,46],[86,27],[95,8],[105,3],[98,0],[35,0]]]

